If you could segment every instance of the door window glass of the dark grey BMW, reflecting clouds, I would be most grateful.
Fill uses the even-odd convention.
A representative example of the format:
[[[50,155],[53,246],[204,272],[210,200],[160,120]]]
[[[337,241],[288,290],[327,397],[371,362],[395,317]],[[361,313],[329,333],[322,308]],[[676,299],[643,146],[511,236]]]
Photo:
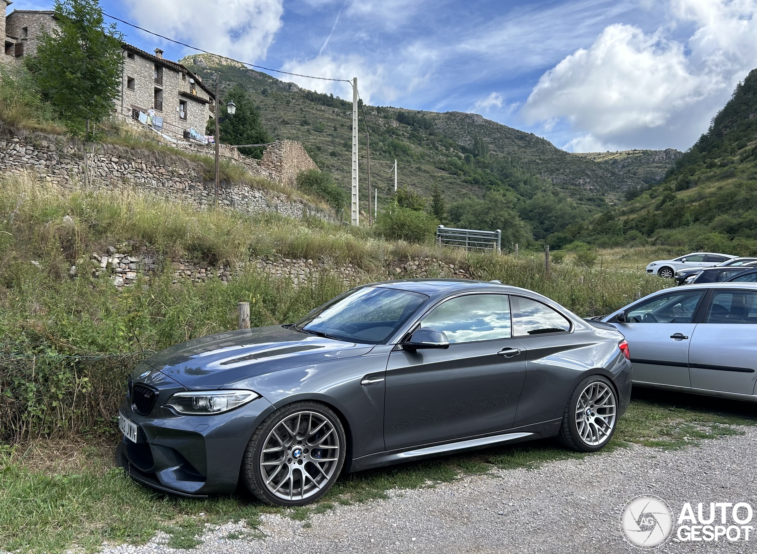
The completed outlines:
[[[450,344],[510,338],[510,307],[504,294],[470,294],[446,300],[421,327],[443,331]]]

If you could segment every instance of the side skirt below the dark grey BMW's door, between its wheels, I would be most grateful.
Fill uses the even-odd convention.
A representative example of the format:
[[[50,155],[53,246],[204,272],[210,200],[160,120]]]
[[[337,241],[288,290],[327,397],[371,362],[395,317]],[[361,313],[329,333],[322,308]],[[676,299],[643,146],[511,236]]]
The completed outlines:
[[[360,458],[355,458],[350,463],[348,471],[358,472],[363,469],[371,469],[379,466],[391,466],[395,463],[413,462],[444,454],[465,452],[466,450],[478,450],[496,446],[497,444],[533,441],[538,438],[554,437],[559,431],[562,419],[552,419],[528,426],[508,429],[508,432],[499,435],[485,435],[475,438],[465,438],[460,441],[441,444],[422,444],[412,448],[377,452]]]

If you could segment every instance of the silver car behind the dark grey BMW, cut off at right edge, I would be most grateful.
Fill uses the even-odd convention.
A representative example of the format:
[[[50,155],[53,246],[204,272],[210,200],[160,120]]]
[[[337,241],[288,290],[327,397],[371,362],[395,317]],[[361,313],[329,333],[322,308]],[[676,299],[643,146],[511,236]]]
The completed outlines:
[[[757,401],[757,284],[664,289],[603,321],[628,340],[634,385]]]

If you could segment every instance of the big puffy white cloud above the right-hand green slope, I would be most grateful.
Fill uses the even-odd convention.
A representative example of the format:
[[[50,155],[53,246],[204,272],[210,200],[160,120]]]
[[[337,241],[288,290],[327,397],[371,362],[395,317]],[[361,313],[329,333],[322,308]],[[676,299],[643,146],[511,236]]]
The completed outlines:
[[[541,76],[523,115],[547,127],[564,119],[582,133],[566,145],[572,150],[690,146],[755,63],[755,1],[673,0],[671,14],[652,33],[607,26]],[[671,38],[691,23],[686,42]]]

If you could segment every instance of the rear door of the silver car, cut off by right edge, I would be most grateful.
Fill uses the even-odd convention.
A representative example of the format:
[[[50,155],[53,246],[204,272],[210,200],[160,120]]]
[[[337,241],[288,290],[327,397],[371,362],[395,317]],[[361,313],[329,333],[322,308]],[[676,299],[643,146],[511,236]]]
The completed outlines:
[[[752,395],[757,379],[757,292],[713,289],[689,346],[693,388]]]

